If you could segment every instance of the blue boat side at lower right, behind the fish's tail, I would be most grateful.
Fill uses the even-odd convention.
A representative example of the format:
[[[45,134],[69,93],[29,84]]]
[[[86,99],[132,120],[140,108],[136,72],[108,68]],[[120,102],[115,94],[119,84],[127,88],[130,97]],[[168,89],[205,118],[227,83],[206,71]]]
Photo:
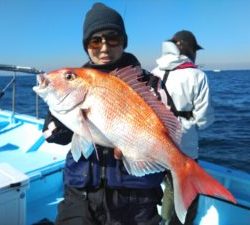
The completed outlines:
[[[237,204],[200,195],[197,225],[250,225],[250,174],[200,161],[234,195]]]

